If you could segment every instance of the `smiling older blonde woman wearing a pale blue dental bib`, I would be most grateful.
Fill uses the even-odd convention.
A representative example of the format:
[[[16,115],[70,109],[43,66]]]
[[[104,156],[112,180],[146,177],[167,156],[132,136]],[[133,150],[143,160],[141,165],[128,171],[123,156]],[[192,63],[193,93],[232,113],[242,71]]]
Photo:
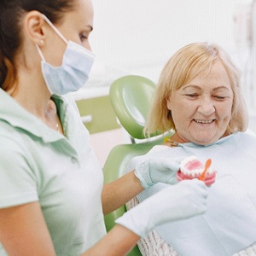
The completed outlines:
[[[153,156],[174,160],[195,155],[202,162],[212,159],[217,173],[208,189],[207,212],[157,227],[139,242],[143,255],[232,255],[245,248],[253,252],[256,137],[245,133],[247,122],[240,72],[224,49],[189,44],[166,63],[145,133],[175,134],[165,145],[131,160],[128,170]],[[129,207],[166,186],[158,183],[144,190]]]

